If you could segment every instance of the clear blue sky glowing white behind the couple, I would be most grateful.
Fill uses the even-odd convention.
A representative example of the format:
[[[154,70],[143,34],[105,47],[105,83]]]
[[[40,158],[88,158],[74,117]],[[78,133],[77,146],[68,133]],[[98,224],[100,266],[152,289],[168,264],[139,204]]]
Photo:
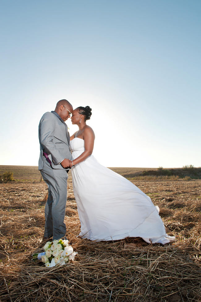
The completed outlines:
[[[38,164],[40,118],[65,98],[92,108],[101,164],[201,166],[201,1],[0,6],[0,164]]]

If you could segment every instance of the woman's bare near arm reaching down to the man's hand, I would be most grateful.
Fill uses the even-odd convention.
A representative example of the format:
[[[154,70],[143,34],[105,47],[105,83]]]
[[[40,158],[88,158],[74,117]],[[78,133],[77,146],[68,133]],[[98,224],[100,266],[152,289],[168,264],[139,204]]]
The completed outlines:
[[[79,164],[81,161],[86,160],[86,158],[92,154],[95,135],[92,128],[86,128],[83,133],[84,138],[84,152],[79,155],[75,160],[73,160],[73,165]]]

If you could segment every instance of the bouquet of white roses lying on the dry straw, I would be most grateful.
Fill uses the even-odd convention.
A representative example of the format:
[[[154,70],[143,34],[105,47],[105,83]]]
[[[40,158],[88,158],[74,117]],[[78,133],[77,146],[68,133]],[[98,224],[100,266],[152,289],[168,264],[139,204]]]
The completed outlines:
[[[48,241],[43,247],[43,253],[33,254],[32,260],[41,260],[46,267],[53,267],[55,265],[64,265],[70,260],[74,260],[76,252],[73,252],[71,245],[68,245],[68,240],[54,240]]]

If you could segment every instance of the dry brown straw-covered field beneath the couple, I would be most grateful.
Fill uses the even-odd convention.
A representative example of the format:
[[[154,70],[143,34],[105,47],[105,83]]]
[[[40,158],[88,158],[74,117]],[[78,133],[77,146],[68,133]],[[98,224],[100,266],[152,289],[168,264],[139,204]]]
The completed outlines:
[[[140,168],[112,168],[123,176]],[[47,187],[37,167],[0,166],[18,181],[0,184],[0,301],[200,301],[201,180],[132,180],[160,207],[176,242],[148,245],[141,238],[92,242],[77,237],[79,217],[71,174],[67,237],[78,252],[66,266],[32,262],[41,252]],[[129,177],[128,177],[129,178]],[[130,177],[132,178],[132,177]]]

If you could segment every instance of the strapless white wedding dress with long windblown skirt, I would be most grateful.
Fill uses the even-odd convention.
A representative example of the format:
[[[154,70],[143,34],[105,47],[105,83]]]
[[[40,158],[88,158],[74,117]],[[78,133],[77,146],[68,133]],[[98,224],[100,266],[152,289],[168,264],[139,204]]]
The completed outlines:
[[[84,140],[70,142],[73,159],[84,151]],[[72,183],[81,223],[79,236],[90,240],[142,237],[150,243],[168,243],[158,207],[138,187],[102,166],[93,155],[72,169]]]

